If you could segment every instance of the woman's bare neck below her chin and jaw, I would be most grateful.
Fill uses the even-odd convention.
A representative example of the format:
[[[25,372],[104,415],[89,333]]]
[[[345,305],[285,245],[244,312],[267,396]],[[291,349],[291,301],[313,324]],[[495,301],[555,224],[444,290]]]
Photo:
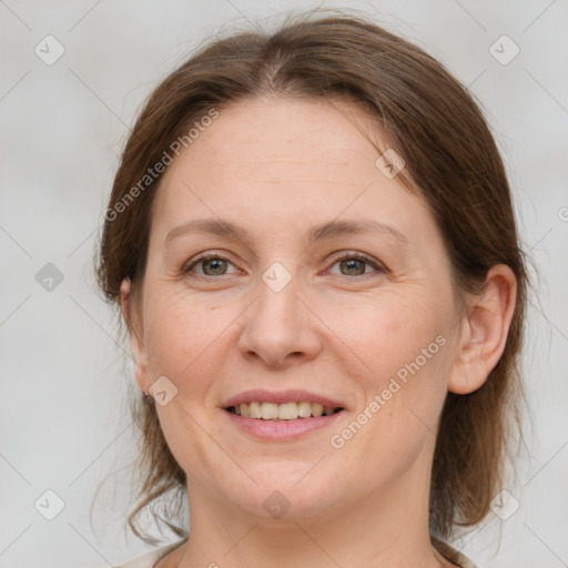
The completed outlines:
[[[189,542],[176,550],[175,564],[160,568],[454,566],[432,547],[429,476],[418,462],[381,491],[359,489],[356,501],[336,500],[317,515],[291,508],[277,519],[232,507],[189,478]]]

